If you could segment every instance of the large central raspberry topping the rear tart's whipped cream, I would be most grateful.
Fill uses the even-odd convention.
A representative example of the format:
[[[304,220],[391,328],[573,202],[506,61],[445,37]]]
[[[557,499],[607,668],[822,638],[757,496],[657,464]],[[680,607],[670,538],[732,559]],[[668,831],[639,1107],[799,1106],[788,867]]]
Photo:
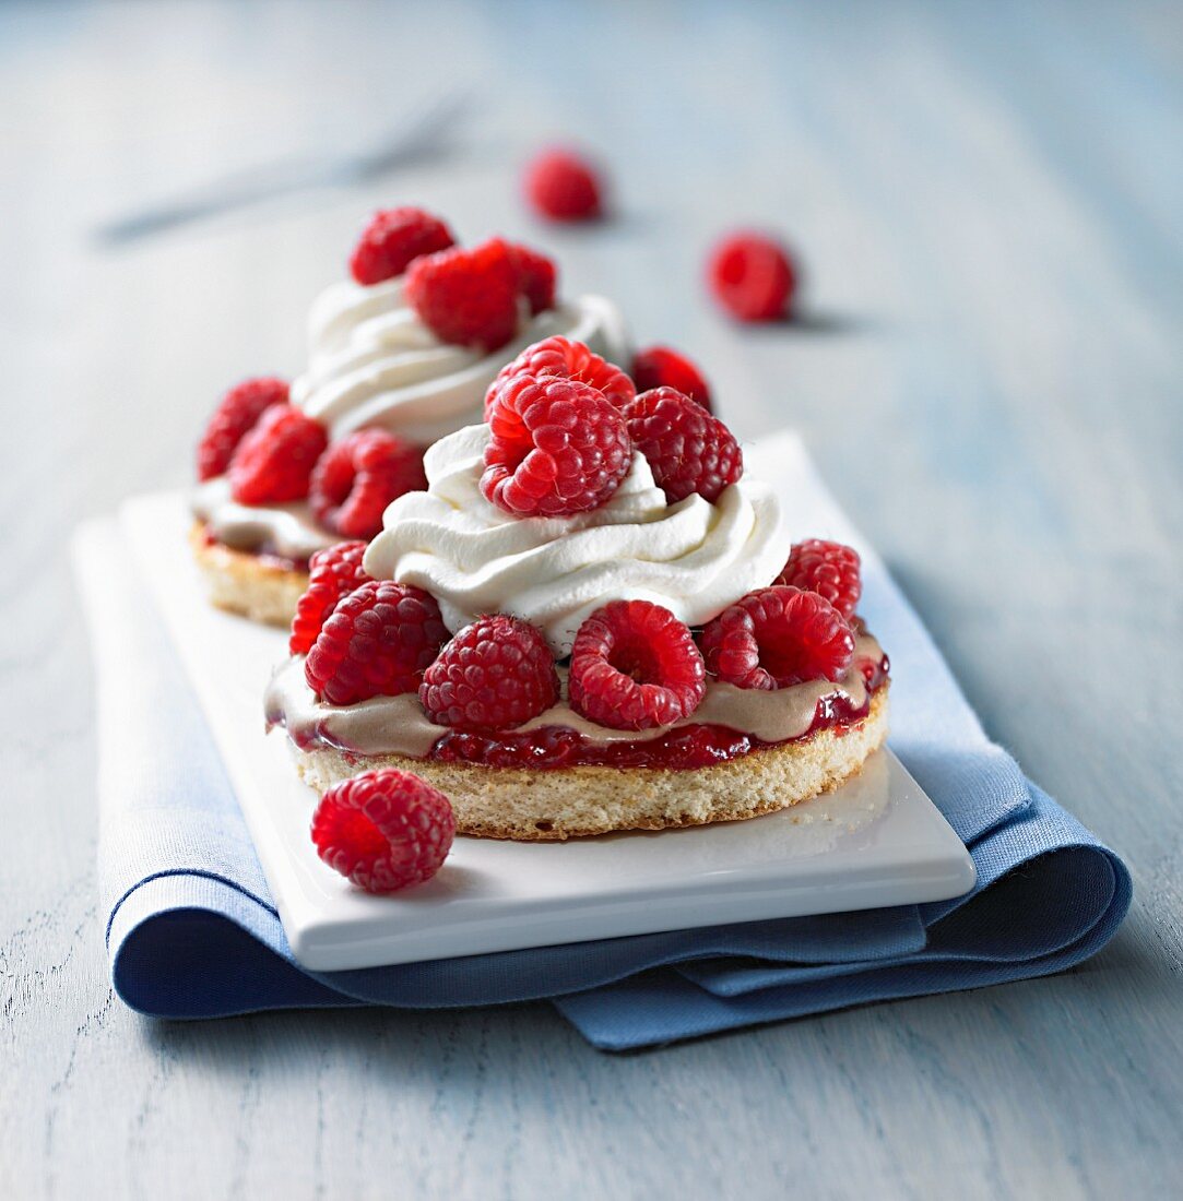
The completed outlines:
[[[518,276],[498,238],[417,258],[407,270],[406,293],[444,342],[495,351],[518,329]]]

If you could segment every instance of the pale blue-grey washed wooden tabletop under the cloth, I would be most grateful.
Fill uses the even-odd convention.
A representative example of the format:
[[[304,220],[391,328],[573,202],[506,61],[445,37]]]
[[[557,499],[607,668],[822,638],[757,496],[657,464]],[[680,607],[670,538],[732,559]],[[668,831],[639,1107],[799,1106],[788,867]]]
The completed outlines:
[[[90,237],[461,84],[456,136],[396,178]],[[0,113],[0,1193],[1177,1189],[1177,4],[6,5]],[[610,165],[604,228],[522,211],[555,135]],[[542,243],[641,340],[692,348],[741,434],[803,430],[990,731],[1129,862],[1103,955],[631,1057],[540,1005],[169,1024],[112,997],[68,532],[184,483],[229,381],[298,370],[310,299],[396,201]],[[800,247],[797,325],[705,300],[736,222]]]

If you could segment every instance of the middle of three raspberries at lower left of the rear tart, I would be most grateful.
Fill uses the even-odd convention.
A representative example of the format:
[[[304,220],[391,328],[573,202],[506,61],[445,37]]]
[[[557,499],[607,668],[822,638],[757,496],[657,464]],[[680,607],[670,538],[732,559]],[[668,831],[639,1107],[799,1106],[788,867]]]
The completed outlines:
[[[273,405],[231,459],[231,494],[241,504],[303,500],[328,441],[319,422],[292,405]]]

